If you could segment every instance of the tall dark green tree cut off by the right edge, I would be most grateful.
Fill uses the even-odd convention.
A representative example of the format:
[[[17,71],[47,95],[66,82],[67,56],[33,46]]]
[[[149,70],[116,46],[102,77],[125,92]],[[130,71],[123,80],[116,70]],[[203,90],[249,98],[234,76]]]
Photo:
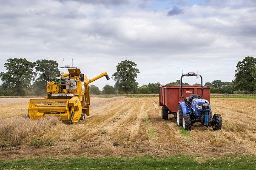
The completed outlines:
[[[234,83],[239,90],[256,90],[256,58],[247,56],[236,64]]]

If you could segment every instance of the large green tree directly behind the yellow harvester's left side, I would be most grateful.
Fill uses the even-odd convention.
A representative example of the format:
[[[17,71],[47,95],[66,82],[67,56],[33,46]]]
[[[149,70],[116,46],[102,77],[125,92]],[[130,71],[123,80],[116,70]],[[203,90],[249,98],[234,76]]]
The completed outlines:
[[[34,82],[33,87],[37,95],[46,93],[46,83],[49,78],[55,78],[60,75],[58,66],[59,64],[54,60],[43,59],[36,61],[37,80]]]

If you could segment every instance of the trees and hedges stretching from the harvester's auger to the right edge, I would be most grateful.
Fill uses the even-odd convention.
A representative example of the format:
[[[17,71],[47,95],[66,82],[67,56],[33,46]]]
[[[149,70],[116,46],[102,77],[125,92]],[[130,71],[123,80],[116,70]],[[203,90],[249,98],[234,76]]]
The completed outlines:
[[[95,86],[91,85],[91,93],[93,94],[122,94],[122,93],[137,93],[137,94],[157,94],[159,93],[159,82],[149,83],[139,87],[136,82],[137,64],[133,61],[124,60],[118,63],[117,72],[112,76],[116,81],[113,86],[106,85],[102,91]],[[205,86],[210,87],[210,93],[256,93],[256,58],[245,57],[242,61],[236,64],[235,80],[232,82],[222,82],[221,80],[214,80],[206,82]],[[165,85],[180,85],[180,80],[169,82]],[[190,85],[187,82],[182,82],[182,85]],[[193,85],[201,85],[195,83]]]

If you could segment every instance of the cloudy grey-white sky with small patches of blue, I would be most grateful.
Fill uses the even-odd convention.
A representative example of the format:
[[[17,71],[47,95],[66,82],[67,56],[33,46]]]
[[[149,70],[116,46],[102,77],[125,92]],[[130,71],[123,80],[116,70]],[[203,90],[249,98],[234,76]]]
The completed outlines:
[[[256,0],[0,0],[0,72],[8,58],[74,58],[91,78],[127,59],[139,85],[174,82],[182,69],[232,81],[255,54]]]

